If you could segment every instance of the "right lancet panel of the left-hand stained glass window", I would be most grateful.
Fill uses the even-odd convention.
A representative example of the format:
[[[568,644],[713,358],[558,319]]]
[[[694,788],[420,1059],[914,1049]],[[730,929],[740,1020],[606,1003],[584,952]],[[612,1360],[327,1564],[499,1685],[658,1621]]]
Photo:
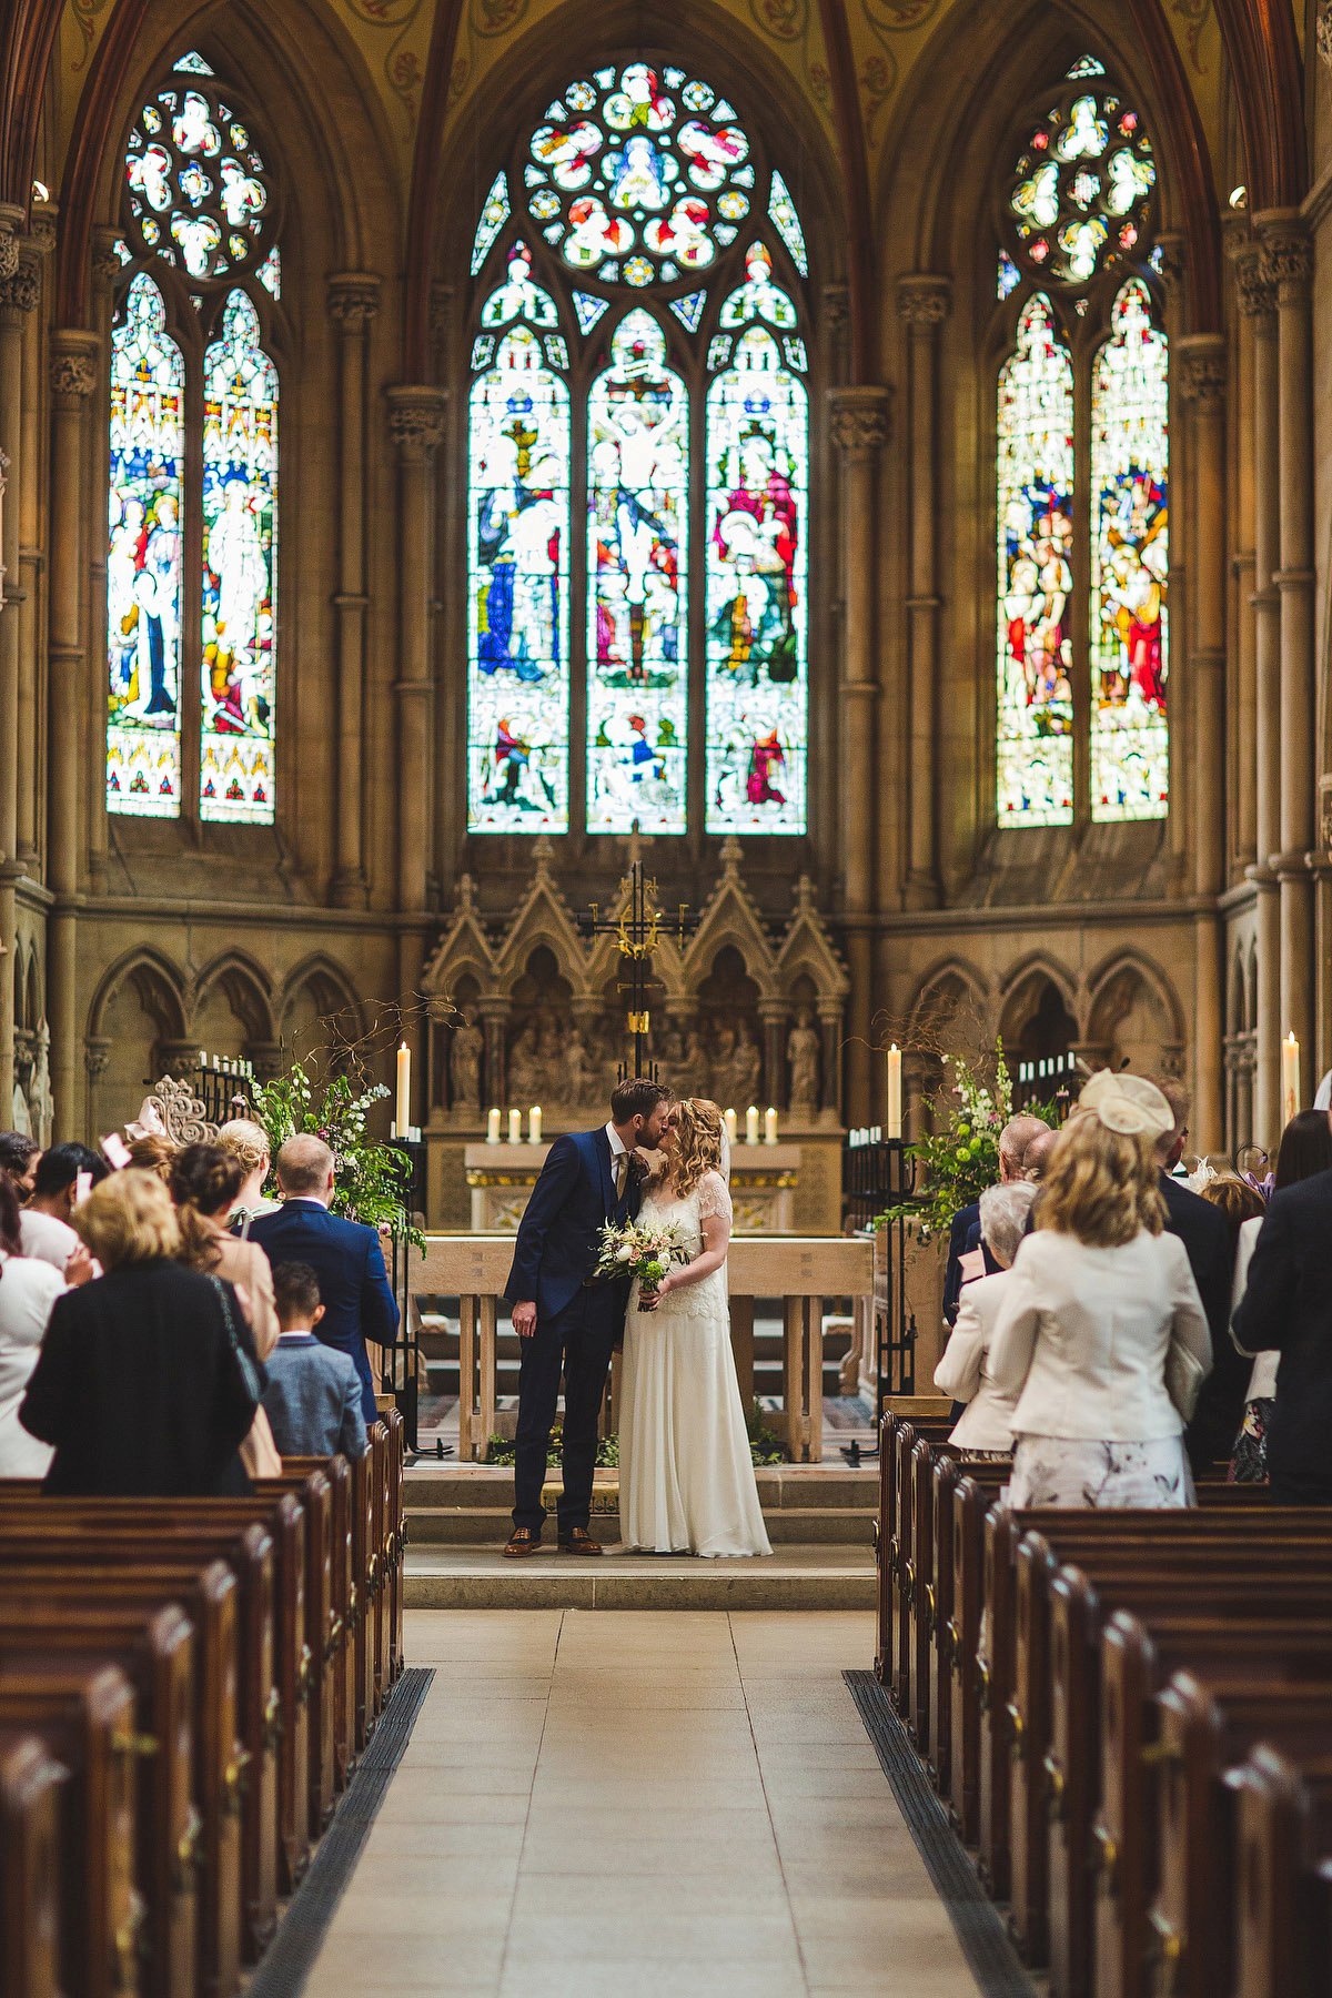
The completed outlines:
[[[204,819],[274,817],[278,370],[232,292],[204,356]]]

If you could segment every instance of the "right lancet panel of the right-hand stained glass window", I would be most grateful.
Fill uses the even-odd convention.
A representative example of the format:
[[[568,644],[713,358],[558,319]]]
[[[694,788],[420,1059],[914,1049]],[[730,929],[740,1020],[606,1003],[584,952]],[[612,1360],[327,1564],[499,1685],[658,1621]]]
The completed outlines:
[[[1168,342],[1134,278],[1092,374],[1092,819],[1160,819],[1170,799],[1168,414]]]

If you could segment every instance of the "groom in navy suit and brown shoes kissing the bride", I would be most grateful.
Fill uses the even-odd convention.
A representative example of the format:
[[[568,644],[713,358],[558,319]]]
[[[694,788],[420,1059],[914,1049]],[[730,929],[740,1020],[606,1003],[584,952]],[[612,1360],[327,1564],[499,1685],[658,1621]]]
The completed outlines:
[[[557,1137],[545,1155],[517,1229],[513,1269],[505,1299],[521,1339],[517,1381],[517,1451],[513,1469],[513,1534],[509,1558],[541,1546],[545,1506],[545,1453],[565,1375],[563,1493],[559,1544],[567,1554],[599,1554],[587,1532],[591,1473],[597,1461],[597,1415],[611,1351],[623,1333],[629,1285],[593,1277],[597,1231],[603,1223],[633,1221],[639,1211],[643,1167],[635,1147],[661,1143],[671,1091],[643,1077],[611,1093],[611,1121],[599,1131]]]

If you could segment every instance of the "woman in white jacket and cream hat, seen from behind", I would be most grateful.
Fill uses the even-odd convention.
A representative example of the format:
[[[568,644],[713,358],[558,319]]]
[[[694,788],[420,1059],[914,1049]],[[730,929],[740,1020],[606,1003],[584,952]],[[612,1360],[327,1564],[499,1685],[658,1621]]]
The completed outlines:
[[[1050,1153],[989,1351],[997,1391],[1016,1399],[1014,1506],[1194,1502],[1174,1395],[1186,1407],[1212,1357],[1164,1227],[1156,1141],[1170,1129],[1152,1083],[1102,1069]]]

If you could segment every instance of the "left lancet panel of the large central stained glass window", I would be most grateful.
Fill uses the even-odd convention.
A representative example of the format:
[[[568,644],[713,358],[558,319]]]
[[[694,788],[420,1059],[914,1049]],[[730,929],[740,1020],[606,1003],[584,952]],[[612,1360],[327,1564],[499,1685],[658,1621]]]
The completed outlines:
[[[513,326],[471,384],[467,823],[569,825],[569,390]]]

